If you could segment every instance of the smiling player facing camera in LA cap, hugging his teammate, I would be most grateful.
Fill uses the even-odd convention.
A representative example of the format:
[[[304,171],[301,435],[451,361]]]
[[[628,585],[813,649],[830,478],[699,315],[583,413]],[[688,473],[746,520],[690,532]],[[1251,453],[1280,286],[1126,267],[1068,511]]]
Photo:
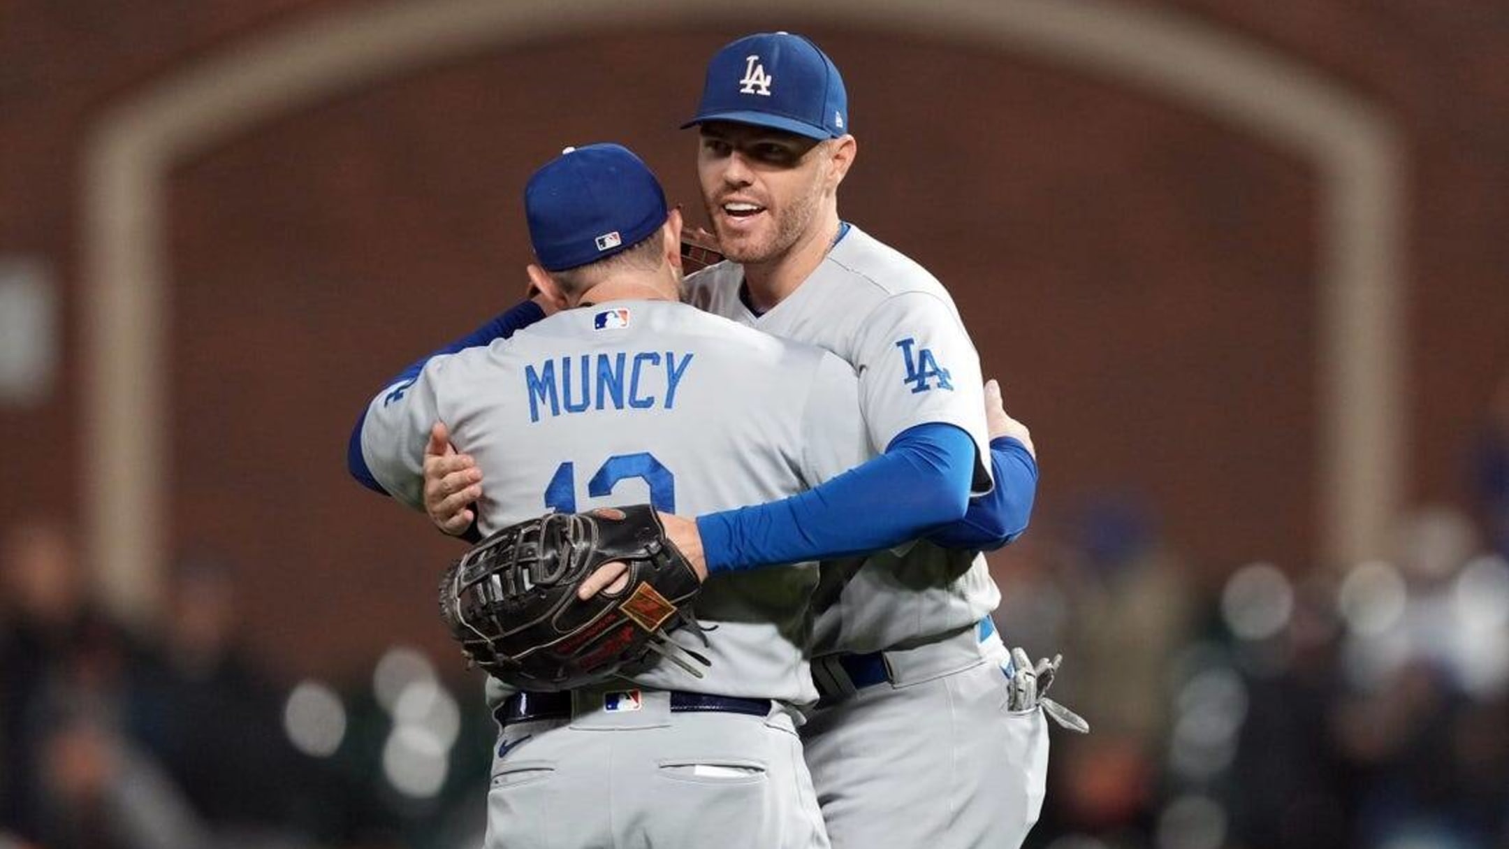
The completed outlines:
[[[884,453],[818,491],[831,497],[703,514],[668,523],[672,536],[715,571],[742,570],[874,550],[863,542],[919,500],[963,512],[973,494],[928,539],[824,563],[810,644],[822,701],[801,733],[834,846],[1019,846],[1041,810],[1047,734],[1032,701],[1013,710],[1022,702],[988,618],[999,591],[978,550],[1026,524],[1031,440],[1025,429],[987,440],[978,355],[948,292],[839,219],[857,144],[842,77],[815,44],[789,33],[729,44],[687,125],[699,128],[703,201],[730,260],[688,278],[687,299],[853,364]],[[454,530],[478,479],[465,456],[435,459],[432,517]],[[874,497],[834,494],[837,483]]]

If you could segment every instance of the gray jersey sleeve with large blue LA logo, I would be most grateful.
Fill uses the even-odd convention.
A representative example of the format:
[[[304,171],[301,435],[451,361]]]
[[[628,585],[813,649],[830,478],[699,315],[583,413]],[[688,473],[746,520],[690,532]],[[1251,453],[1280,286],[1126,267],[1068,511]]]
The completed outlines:
[[[979,353],[954,307],[927,292],[887,298],[862,323],[854,353],[871,441],[884,450],[908,428],[955,424],[975,440],[972,489],[988,492],[990,438]]]

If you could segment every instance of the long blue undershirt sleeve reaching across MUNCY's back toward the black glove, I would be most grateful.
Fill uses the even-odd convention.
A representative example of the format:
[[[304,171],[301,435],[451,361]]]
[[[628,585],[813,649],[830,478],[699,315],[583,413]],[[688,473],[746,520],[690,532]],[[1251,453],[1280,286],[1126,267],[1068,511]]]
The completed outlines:
[[[697,517],[709,573],[860,554],[958,521],[975,441],[954,424],[896,435],[886,453],[798,496]]]

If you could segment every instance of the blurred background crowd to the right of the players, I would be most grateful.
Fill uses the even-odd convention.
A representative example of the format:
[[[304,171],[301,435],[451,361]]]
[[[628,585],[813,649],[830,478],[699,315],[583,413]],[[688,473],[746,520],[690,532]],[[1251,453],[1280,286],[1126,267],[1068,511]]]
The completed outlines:
[[[1509,846],[1509,562],[1423,509],[1396,556],[1189,583],[1135,512],[1023,541],[997,619],[1062,651],[1052,849]]]

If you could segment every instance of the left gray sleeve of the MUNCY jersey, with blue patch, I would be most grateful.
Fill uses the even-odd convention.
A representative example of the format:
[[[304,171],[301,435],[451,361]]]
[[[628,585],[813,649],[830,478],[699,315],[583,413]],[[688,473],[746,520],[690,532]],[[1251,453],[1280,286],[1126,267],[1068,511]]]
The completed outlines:
[[[362,421],[362,459],[389,496],[424,509],[424,446],[430,428],[444,421],[436,382],[454,355],[432,357],[412,381],[394,384],[367,406]]]

